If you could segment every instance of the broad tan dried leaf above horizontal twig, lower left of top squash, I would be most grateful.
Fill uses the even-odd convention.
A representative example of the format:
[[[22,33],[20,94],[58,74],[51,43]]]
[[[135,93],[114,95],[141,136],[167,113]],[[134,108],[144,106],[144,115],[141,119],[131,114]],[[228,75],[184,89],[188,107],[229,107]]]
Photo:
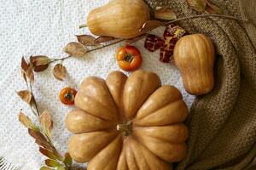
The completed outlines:
[[[83,57],[87,49],[79,42],[69,42],[67,46],[63,48],[63,51],[73,57]]]

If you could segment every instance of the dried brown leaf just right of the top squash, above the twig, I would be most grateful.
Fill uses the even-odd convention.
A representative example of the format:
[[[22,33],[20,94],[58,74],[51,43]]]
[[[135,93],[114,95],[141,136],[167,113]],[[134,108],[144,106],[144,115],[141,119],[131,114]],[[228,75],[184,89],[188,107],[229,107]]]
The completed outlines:
[[[171,8],[156,8],[154,11],[154,18],[160,20],[176,20],[177,16]]]

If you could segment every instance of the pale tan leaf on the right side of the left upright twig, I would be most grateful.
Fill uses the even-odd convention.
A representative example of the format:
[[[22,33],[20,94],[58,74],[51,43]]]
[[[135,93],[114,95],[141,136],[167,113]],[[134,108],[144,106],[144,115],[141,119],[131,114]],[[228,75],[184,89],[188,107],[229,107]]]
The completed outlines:
[[[52,132],[52,129],[53,129],[53,121],[52,121],[51,116],[50,116],[48,111],[44,111],[40,115],[39,122],[41,123],[42,128],[43,128],[44,133],[46,134],[46,136],[51,138],[51,132]]]

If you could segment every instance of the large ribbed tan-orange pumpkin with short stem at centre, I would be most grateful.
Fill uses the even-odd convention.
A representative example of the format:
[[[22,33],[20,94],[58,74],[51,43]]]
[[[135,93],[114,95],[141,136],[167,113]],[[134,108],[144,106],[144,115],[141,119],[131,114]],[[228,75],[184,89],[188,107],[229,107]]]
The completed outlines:
[[[161,86],[152,72],[85,78],[75,105],[66,118],[75,133],[68,150],[88,161],[88,170],[166,170],[186,155],[188,108],[177,88]]]

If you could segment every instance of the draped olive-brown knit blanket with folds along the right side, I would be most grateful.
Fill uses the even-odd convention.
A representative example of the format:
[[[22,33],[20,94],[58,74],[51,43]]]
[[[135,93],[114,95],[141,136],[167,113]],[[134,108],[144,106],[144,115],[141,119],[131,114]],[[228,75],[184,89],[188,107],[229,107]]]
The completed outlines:
[[[211,0],[224,14],[249,22],[200,18],[179,24],[207,34],[219,54],[212,93],[199,96],[190,111],[189,152],[177,169],[256,169],[256,2]],[[172,8],[178,18],[195,15],[186,0],[148,0]],[[253,46],[254,43],[254,46]]]

